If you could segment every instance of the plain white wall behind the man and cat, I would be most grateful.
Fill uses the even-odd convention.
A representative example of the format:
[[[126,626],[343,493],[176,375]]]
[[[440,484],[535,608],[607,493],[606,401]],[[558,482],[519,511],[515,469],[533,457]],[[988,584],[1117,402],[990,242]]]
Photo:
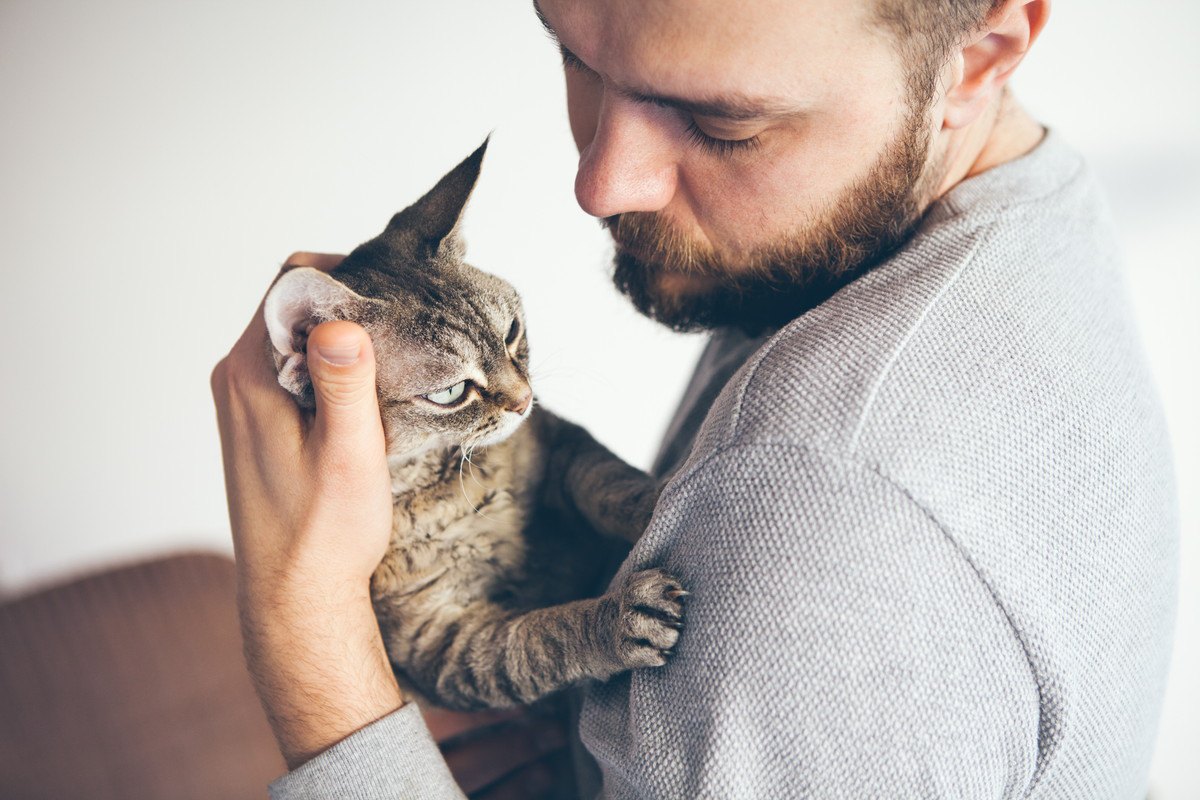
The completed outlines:
[[[1198,28],[1189,0],[1061,0],[1015,80],[1108,187],[1175,440],[1156,800],[1200,796]],[[702,341],[611,289],[523,0],[0,0],[0,591],[228,551],[212,366],[288,253],[374,235],[493,130],[470,260],[526,299],[539,398],[648,465]]]

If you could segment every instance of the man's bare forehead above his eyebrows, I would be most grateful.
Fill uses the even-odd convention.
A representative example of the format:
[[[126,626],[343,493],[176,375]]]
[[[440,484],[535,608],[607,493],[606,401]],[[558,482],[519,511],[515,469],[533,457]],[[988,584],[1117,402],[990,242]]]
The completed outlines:
[[[887,50],[871,0],[535,0],[570,54],[649,95],[796,107]],[[701,112],[697,112],[701,113]]]

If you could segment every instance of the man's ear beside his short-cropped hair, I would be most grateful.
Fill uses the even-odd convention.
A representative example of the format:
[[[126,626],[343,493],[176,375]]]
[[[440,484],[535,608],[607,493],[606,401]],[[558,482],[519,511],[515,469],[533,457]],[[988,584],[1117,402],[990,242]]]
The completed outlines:
[[[943,128],[979,119],[1045,28],[1050,0],[1003,0],[950,59]]]

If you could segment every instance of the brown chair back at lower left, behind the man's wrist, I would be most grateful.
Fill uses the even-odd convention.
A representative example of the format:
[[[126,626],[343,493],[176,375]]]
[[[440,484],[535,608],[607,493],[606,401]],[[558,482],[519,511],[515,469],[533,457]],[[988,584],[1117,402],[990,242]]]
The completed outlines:
[[[0,796],[265,798],[233,563],[190,554],[0,606]]]

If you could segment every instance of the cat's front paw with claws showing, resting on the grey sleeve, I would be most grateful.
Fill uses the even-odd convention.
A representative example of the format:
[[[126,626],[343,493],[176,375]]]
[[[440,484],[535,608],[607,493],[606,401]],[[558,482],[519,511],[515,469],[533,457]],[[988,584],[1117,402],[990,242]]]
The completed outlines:
[[[617,619],[617,655],[628,669],[661,667],[679,640],[683,597],[679,582],[662,570],[643,570],[622,589]]]

